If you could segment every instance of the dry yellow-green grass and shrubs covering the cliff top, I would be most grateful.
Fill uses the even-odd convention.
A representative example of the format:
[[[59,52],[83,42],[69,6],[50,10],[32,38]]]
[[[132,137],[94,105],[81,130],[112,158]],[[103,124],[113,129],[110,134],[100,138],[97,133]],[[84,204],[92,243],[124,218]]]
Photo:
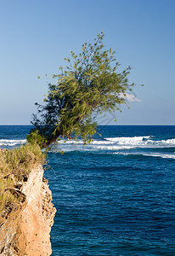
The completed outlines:
[[[6,205],[20,201],[15,188],[31,172],[43,164],[45,155],[38,145],[25,144],[12,150],[0,149],[0,210]],[[14,193],[13,193],[14,192]]]

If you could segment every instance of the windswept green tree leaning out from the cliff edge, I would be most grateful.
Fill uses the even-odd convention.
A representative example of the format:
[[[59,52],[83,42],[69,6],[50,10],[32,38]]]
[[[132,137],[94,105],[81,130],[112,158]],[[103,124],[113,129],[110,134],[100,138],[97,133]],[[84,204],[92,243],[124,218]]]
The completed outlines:
[[[115,51],[105,49],[104,33],[94,39],[93,44],[82,44],[82,52],[66,59],[66,67],[59,67],[60,73],[53,75],[56,83],[48,84],[48,96],[44,104],[37,104],[31,124],[35,126],[27,136],[30,143],[47,148],[59,137],[68,139],[82,137],[89,142],[96,132],[95,114],[107,111],[121,111],[121,104],[127,104],[127,75],[131,67],[117,73],[120,64]]]

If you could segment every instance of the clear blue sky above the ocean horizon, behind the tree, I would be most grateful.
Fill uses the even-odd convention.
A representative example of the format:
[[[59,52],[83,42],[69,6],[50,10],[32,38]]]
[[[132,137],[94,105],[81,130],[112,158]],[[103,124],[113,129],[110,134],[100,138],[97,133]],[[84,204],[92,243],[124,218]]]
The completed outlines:
[[[64,58],[102,30],[136,86],[99,124],[175,125],[174,14],[174,0],[1,0],[0,125],[30,124]]]

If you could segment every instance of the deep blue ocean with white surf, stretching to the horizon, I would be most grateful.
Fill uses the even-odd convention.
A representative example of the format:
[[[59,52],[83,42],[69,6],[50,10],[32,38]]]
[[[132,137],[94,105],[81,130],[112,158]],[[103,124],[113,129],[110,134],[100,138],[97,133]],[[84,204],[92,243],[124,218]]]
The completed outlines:
[[[30,125],[1,125],[0,148]],[[101,137],[60,141],[45,171],[57,213],[53,254],[175,255],[175,126],[99,126]]]

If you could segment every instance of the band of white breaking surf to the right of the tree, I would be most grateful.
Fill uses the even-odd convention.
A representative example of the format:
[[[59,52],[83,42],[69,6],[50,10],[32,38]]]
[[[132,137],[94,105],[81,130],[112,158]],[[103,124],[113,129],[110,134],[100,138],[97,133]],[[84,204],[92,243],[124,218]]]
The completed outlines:
[[[105,137],[104,139],[95,139],[93,142],[83,145],[83,141],[59,141],[58,147],[65,151],[96,151],[109,154],[139,154],[147,155],[153,157],[169,158],[175,159],[175,154],[172,153],[173,148],[175,148],[175,138],[167,140],[158,140],[158,138],[152,136],[144,137]],[[171,153],[168,154],[169,148]],[[155,153],[148,152],[148,150],[154,150]],[[156,152],[158,151],[159,152]],[[162,154],[160,150],[164,151]],[[173,150],[174,151],[174,150]]]

